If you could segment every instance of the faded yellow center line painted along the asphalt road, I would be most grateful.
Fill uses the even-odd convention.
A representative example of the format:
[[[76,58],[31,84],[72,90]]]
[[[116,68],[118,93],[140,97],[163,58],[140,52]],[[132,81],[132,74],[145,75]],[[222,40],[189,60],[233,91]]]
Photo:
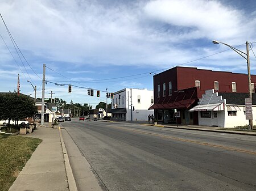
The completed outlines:
[[[221,145],[214,145],[214,144],[211,144],[211,143],[204,143],[204,142],[200,142],[200,141],[193,141],[193,140],[189,140],[189,139],[177,138],[177,137],[174,137],[174,136],[171,136],[171,135],[161,135],[161,134],[150,133],[150,132],[145,132],[145,131],[141,131],[141,130],[122,128],[120,126],[115,126],[115,128],[125,129],[125,130],[134,131],[134,132],[142,133],[142,134],[154,135],[156,137],[162,137],[162,138],[167,138],[167,139],[174,139],[176,141],[195,143],[195,144],[198,144],[198,145],[222,148],[224,150],[237,151],[237,152],[243,152],[243,153],[247,153],[247,154],[251,154],[251,155],[256,155],[256,152],[248,151],[248,150],[242,150],[240,148],[233,148],[233,147],[226,147],[226,146],[221,146]]]

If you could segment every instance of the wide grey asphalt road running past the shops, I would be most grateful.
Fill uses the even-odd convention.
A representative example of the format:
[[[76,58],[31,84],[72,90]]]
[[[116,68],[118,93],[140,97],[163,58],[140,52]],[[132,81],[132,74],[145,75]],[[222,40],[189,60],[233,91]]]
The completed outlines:
[[[76,119],[62,126],[106,190],[256,190],[254,136]]]

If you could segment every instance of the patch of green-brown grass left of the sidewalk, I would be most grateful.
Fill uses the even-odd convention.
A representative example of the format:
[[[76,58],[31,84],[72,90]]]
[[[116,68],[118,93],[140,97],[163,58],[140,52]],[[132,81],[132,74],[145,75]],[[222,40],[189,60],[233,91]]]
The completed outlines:
[[[7,191],[41,139],[0,134],[0,190]]]

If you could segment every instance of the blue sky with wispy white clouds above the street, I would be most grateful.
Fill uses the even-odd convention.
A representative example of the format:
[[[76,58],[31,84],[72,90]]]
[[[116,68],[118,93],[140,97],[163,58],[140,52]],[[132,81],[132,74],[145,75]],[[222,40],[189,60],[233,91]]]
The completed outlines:
[[[247,74],[245,58],[213,40],[242,52],[249,41],[256,74],[254,0],[1,0],[0,14],[0,92],[14,92],[19,74],[20,92],[34,97],[30,80],[42,97],[43,64],[46,98],[93,107],[106,88],[152,90],[153,75],[175,66]]]

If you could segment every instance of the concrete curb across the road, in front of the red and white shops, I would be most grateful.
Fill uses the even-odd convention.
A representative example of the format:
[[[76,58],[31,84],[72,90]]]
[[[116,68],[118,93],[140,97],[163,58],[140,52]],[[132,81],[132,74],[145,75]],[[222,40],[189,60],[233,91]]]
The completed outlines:
[[[215,132],[215,133],[229,133],[229,134],[256,136],[256,133],[251,134],[251,133],[247,133],[245,131],[239,132],[239,131],[232,131],[232,130],[229,131],[229,130],[217,130],[217,129],[179,128],[179,127],[175,127],[175,126],[149,125],[149,124],[141,124],[141,125],[158,126],[159,128],[186,129],[186,130],[197,130],[197,131],[210,131],[210,132]]]

